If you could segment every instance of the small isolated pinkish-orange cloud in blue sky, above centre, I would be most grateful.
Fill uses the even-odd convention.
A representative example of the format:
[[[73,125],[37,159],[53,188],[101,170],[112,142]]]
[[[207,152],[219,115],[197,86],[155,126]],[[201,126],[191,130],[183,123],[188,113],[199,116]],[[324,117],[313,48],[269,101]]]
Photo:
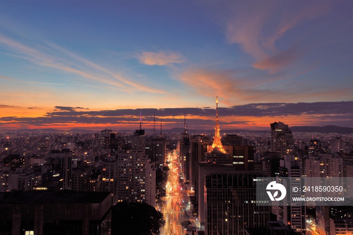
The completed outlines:
[[[137,55],[137,57],[141,64],[151,66],[163,66],[168,64],[179,64],[185,62],[185,58],[181,54],[173,51],[142,51],[140,54]]]

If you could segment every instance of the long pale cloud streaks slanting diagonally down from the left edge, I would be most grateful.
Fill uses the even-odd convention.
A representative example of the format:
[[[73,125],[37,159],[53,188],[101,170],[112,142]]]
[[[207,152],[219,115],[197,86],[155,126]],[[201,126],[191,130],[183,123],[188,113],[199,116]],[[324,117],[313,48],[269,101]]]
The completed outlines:
[[[115,90],[132,92],[134,90],[149,93],[165,93],[141,83],[135,83],[130,78],[103,68],[85,58],[50,42],[41,42],[38,48],[25,45],[9,37],[1,35],[0,44],[5,45],[7,50],[12,51],[13,56],[22,57],[34,64],[53,68],[56,70],[79,75],[88,81],[99,82]],[[35,45],[35,44],[34,44]],[[63,85],[60,83],[42,83]]]

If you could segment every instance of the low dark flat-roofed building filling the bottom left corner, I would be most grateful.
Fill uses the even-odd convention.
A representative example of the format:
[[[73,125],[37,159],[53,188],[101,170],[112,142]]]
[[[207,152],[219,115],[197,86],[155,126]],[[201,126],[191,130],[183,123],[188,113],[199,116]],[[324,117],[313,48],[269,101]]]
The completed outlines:
[[[0,193],[0,234],[108,235],[110,206],[106,192]]]

